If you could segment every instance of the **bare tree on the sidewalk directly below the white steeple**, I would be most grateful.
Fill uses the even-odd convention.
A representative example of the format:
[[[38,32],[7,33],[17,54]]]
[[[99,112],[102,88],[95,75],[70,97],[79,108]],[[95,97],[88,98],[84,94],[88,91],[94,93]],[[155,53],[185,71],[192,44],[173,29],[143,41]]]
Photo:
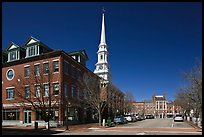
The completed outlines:
[[[101,126],[102,113],[108,104],[107,85],[103,85],[103,81],[103,79],[92,76],[91,73],[84,74],[81,80],[85,88],[84,101],[98,112],[99,126]]]

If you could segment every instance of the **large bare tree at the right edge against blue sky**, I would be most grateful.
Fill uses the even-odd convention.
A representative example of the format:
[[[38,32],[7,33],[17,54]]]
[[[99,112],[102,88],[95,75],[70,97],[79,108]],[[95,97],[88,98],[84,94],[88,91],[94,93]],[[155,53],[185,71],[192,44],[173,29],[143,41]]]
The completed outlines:
[[[198,118],[198,115],[202,115],[202,63],[197,62],[189,72],[185,72],[184,79],[187,85],[180,88],[176,103],[187,113],[193,109],[195,117]]]

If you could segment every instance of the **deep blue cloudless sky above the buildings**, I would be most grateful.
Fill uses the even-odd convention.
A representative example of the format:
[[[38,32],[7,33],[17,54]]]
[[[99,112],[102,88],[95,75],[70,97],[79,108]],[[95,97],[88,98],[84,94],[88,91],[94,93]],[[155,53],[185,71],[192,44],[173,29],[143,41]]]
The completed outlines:
[[[102,8],[112,83],[136,101],[174,100],[202,57],[201,2],[3,2],[2,50],[30,36],[56,50],[85,49],[94,71]]]

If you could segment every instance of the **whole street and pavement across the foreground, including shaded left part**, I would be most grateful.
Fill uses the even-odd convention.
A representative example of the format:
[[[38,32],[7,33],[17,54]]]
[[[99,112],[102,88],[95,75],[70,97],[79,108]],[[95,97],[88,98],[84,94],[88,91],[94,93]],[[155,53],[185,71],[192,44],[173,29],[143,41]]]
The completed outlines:
[[[96,124],[97,125],[97,124]],[[174,122],[172,118],[146,119],[143,121],[129,122],[115,127],[87,127],[86,130],[65,131],[64,129],[14,129],[3,128],[3,135],[202,135],[202,129],[194,128],[186,121]],[[84,128],[85,129],[85,128]]]

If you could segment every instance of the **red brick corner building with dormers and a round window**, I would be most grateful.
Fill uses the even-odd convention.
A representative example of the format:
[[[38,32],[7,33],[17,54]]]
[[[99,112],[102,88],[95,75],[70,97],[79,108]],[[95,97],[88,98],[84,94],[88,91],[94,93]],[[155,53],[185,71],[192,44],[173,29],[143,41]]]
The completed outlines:
[[[51,104],[55,104],[51,108],[51,123],[63,125],[66,109],[70,123],[92,120],[94,111],[83,106],[86,92],[80,78],[89,73],[91,79],[98,81],[95,83],[98,90],[101,78],[87,69],[87,60],[85,50],[69,53],[52,50],[34,37],[23,47],[11,43],[2,55],[2,124],[34,124],[35,121],[45,124],[31,103],[38,99],[48,101],[48,93],[52,93]],[[122,108],[123,94],[117,95],[114,96],[120,102],[116,102],[117,107]]]

